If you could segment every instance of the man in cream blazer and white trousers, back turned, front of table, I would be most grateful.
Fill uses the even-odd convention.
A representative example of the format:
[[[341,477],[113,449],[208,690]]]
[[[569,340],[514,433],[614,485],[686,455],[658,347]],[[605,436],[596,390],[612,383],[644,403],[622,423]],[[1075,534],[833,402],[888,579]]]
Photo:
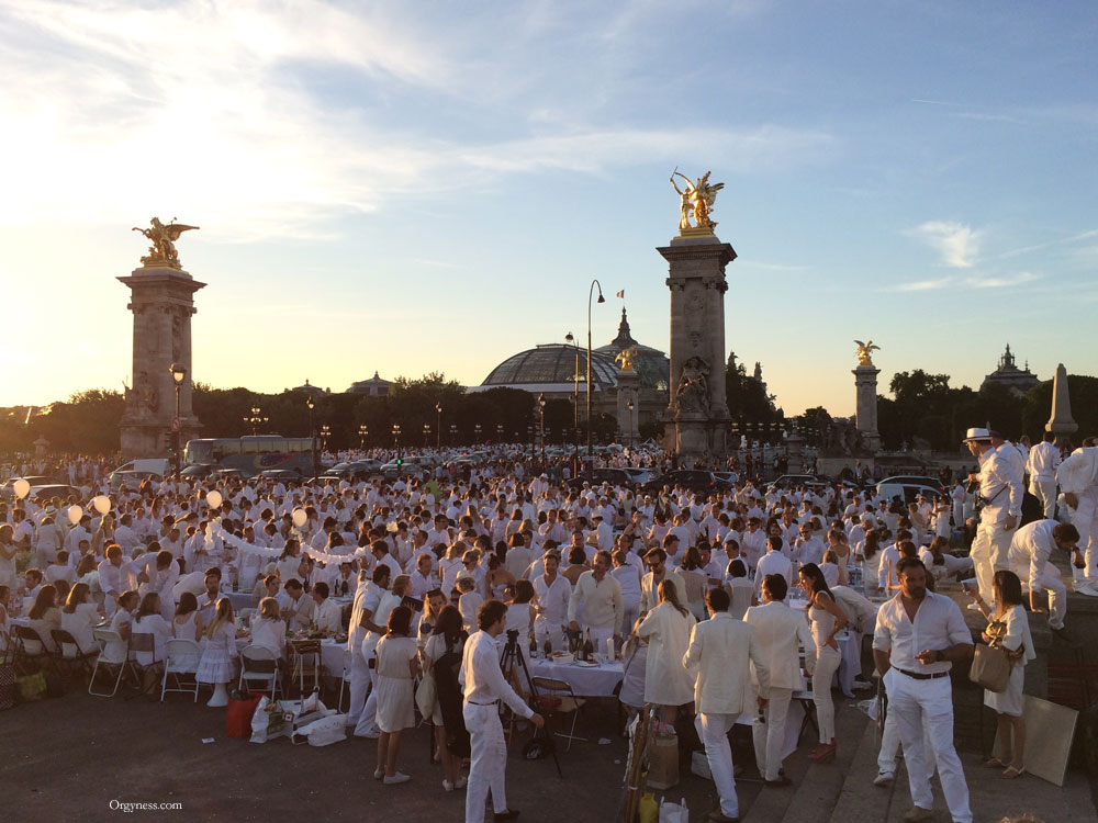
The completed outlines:
[[[708,818],[716,823],[740,819],[728,730],[749,707],[754,708],[749,663],[754,664],[759,678],[759,704],[765,706],[770,696],[766,661],[755,642],[754,630],[728,613],[729,601],[728,593],[722,588],[710,589],[706,594],[710,619],[694,627],[690,646],[683,655],[683,665],[696,678],[695,725],[705,744],[713,782],[720,796],[720,809],[709,812]]]

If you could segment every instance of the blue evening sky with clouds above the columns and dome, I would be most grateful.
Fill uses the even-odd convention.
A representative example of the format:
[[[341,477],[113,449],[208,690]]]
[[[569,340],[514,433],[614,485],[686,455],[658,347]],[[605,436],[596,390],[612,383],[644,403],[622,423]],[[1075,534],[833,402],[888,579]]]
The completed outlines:
[[[121,390],[152,216],[193,377],[479,384],[620,308],[669,348],[712,170],[726,345],[786,414],[1006,343],[1098,374],[1098,5],[0,0],[0,406]],[[625,300],[614,297],[625,291]]]

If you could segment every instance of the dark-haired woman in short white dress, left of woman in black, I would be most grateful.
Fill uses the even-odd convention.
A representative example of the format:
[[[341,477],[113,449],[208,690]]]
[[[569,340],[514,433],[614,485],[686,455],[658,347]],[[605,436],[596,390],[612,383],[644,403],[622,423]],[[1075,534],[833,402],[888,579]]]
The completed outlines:
[[[389,613],[385,636],[378,641],[378,767],[385,786],[411,778],[396,770],[401,732],[415,725],[413,678],[419,672],[419,652],[412,636],[412,609],[397,606]]]

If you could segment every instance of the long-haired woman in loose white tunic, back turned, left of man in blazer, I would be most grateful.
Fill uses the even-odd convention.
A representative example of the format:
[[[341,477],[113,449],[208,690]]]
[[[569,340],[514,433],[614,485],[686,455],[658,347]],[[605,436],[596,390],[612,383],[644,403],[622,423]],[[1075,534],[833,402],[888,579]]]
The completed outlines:
[[[637,635],[648,639],[645,702],[662,706],[664,722],[674,723],[677,708],[694,699],[694,678],[683,666],[683,656],[697,620],[679,602],[672,580],[660,580],[658,593],[660,605],[637,627]]]

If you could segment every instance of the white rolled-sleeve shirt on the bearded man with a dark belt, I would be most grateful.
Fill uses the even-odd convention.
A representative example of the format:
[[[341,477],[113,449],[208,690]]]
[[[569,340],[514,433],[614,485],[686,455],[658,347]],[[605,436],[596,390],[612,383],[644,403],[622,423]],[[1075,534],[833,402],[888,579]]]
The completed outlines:
[[[908,618],[899,594],[885,600],[877,611],[873,647],[878,652],[889,652],[895,668],[912,674],[949,672],[953,667],[949,661],[922,664],[916,655],[962,643],[971,645],[972,634],[960,607],[944,595],[928,591],[915,612],[915,621]]]

